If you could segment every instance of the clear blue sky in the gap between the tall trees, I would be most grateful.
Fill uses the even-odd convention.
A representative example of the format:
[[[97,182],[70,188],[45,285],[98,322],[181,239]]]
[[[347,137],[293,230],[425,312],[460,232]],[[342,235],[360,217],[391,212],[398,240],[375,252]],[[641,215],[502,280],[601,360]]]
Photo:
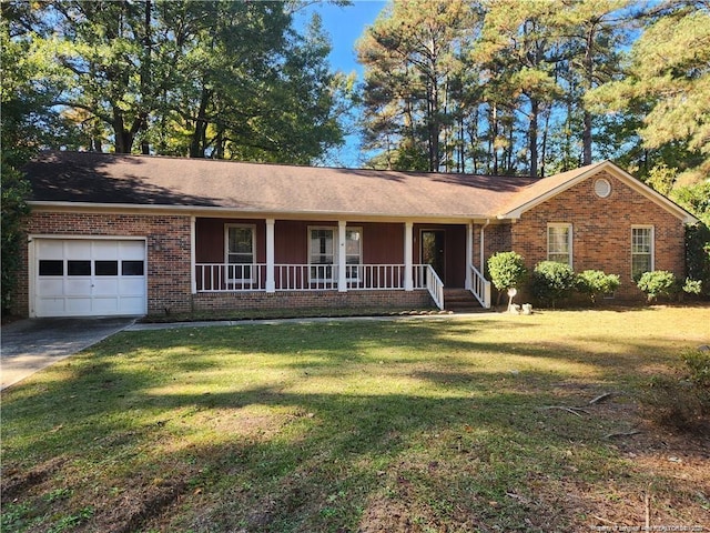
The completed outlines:
[[[362,68],[356,61],[355,42],[371,26],[377,14],[387,4],[386,0],[353,0],[352,6],[338,7],[329,3],[318,3],[301,13],[303,21],[307,21],[313,11],[321,14],[323,29],[328,33],[333,50],[329,60],[333,71],[344,73],[357,72],[362,79]],[[300,21],[298,21],[300,22]],[[349,135],[346,144],[338,153],[326,161],[333,167],[359,168],[358,139]]]

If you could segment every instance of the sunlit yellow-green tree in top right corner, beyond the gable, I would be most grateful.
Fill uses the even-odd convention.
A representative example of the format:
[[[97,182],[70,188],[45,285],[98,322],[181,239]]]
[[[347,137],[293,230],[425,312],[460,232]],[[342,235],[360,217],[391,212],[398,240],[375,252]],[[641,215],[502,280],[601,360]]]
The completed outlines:
[[[667,1],[647,16],[622,80],[592,91],[590,103],[618,113],[645,108],[639,134],[680,183],[710,174],[710,4]]]

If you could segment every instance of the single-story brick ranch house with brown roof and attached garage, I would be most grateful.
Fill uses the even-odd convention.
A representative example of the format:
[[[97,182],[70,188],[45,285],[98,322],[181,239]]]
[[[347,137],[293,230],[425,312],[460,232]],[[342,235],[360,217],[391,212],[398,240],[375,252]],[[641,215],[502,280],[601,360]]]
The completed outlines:
[[[16,298],[30,316],[490,306],[487,259],[684,271],[696,219],[613,163],[546,179],[45,152]]]

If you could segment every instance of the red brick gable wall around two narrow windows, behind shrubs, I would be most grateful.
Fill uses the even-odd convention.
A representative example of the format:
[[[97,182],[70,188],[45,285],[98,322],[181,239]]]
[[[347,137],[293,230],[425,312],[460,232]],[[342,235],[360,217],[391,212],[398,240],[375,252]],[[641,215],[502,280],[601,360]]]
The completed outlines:
[[[655,268],[684,275],[682,221],[623,182],[605,173],[611,194],[599,198],[591,177],[525,212],[510,227],[510,249],[525,258],[528,268],[547,259],[547,224],[572,224],[572,268],[619,274],[619,298],[640,298],[631,279],[631,227],[655,227]],[[488,233],[487,233],[488,234]]]

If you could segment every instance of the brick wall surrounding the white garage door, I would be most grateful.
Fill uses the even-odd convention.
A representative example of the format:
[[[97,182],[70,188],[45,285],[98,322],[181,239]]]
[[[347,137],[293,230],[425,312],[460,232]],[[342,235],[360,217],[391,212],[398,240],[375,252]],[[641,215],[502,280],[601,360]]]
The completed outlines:
[[[189,311],[190,288],[190,217],[49,213],[33,212],[28,221],[28,234],[59,237],[145,237],[148,239],[148,312]],[[155,247],[160,251],[155,251]],[[21,280],[13,312],[29,311],[28,249],[23,249]]]

